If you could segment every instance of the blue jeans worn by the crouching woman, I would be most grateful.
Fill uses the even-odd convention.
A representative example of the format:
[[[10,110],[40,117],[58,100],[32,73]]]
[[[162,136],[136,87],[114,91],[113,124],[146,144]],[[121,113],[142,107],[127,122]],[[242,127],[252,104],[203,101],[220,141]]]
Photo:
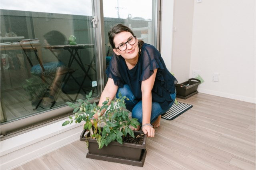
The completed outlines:
[[[130,87],[128,85],[124,85],[124,87],[119,87],[118,91],[116,93],[116,98],[118,98],[118,93],[121,92],[122,96],[126,96],[130,100],[126,100],[126,109],[128,111],[132,112],[132,118],[137,118],[138,122],[142,125],[142,100],[136,99],[136,97],[133,95]],[[175,99],[176,99],[176,93],[170,94],[172,98],[172,103],[170,103],[168,109],[162,109],[159,103],[152,102],[152,110],[151,110],[151,119],[150,123],[154,123],[158,116],[162,115],[163,113],[166,113],[168,111]]]

